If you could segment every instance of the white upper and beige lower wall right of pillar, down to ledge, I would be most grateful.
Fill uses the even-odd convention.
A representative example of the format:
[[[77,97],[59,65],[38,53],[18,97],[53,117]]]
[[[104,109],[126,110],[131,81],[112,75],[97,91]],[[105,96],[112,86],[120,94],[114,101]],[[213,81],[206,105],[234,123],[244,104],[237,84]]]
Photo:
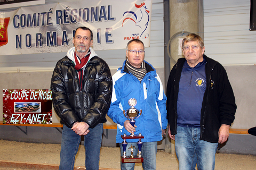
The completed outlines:
[[[256,125],[256,31],[249,27],[250,0],[204,0],[205,54],[228,73],[237,105],[232,128]]]

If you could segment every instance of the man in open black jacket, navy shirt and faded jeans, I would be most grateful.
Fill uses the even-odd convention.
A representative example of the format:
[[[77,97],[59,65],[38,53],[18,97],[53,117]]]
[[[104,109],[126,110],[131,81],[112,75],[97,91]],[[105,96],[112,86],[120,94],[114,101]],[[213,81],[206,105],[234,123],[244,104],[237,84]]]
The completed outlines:
[[[167,83],[169,136],[175,140],[179,170],[214,169],[218,143],[227,141],[236,112],[226,70],[204,55],[201,37],[182,41],[185,58],[174,65]],[[194,163],[193,163],[194,162]]]

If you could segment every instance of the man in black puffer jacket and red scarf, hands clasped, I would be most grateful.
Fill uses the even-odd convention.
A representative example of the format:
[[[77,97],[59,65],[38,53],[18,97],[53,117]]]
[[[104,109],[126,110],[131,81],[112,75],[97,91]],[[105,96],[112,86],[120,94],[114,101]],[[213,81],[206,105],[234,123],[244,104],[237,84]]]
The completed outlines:
[[[84,135],[86,169],[99,169],[103,124],[112,94],[105,61],[95,54],[92,31],[76,29],[67,56],[55,66],[51,80],[53,107],[63,124],[59,169],[73,169]]]

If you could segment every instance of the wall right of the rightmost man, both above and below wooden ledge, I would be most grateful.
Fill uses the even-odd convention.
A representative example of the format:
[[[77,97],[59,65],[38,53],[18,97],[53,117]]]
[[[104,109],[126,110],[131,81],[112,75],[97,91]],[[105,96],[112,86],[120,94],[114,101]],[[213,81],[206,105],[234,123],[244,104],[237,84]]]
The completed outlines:
[[[231,128],[250,129],[256,126],[256,66],[225,66],[236,97],[237,110]],[[250,134],[230,134],[218,152],[256,155],[256,137]]]

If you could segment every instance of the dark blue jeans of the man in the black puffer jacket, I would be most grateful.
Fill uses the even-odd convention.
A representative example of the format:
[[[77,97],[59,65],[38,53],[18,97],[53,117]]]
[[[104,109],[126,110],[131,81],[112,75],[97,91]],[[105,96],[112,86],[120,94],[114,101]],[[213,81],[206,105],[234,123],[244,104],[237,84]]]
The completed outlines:
[[[103,124],[99,123],[95,128],[89,128],[89,130],[90,132],[84,135],[85,167],[86,170],[95,170],[99,169]],[[75,157],[80,141],[81,136],[76,134],[71,128],[63,125],[59,170],[74,169]]]

